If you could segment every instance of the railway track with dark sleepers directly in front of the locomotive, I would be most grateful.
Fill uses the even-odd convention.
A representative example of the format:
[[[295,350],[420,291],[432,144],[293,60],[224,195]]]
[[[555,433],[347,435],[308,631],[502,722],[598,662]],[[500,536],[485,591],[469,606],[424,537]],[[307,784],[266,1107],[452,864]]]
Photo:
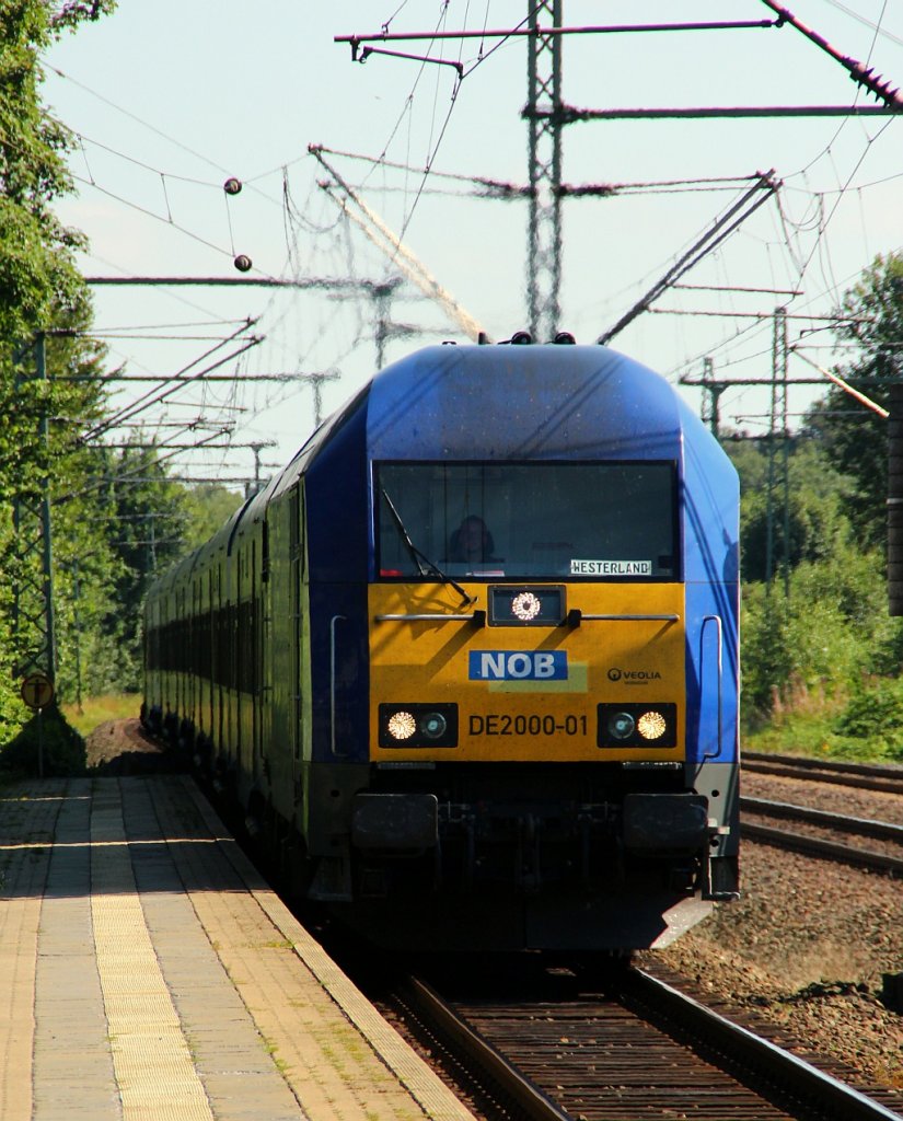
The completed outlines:
[[[444,989],[463,992],[462,978]],[[900,1121],[866,1096],[635,969],[471,986],[407,979],[394,1016],[492,1121]],[[881,1094],[881,1092],[877,1092]]]

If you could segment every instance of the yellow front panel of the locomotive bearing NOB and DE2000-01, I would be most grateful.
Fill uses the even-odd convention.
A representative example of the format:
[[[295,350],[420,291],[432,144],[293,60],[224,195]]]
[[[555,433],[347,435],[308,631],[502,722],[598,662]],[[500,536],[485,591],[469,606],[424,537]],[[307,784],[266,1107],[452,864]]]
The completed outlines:
[[[459,620],[378,618],[486,611],[487,585],[464,587],[476,602],[463,612],[449,586],[371,585],[371,759],[683,759],[682,584],[566,585],[568,610],[584,615],[674,614],[677,622],[584,619],[576,628],[475,627]],[[553,659],[548,657],[552,651]],[[380,748],[379,705],[384,702],[456,702],[458,747]],[[603,702],[674,703],[678,747],[598,748],[596,706]]]

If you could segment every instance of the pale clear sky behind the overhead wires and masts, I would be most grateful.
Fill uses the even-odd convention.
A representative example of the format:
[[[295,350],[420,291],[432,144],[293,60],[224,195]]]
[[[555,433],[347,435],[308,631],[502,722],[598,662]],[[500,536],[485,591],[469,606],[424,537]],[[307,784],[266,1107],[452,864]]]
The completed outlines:
[[[901,0],[786,7],[903,87]],[[117,382],[122,426],[106,439],[134,438],[140,425],[160,443],[206,443],[174,455],[181,478],[266,478],[313,430],[317,397],[328,415],[372,376],[380,314],[385,361],[467,341],[460,317],[408,278],[404,260],[493,340],[528,325],[528,204],[478,185],[527,183],[528,40],[374,43],[416,57],[362,64],[335,38],[512,30],[529,10],[523,0],[120,0],[46,55],[45,101],[77,141],[76,193],[58,211],[89,238],[86,276],[300,285],[95,285],[95,331],[110,368],[131,379]],[[762,0],[564,0],[562,24],[772,18]],[[877,104],[789,24],[569,34],[561,87],[568,105],[587,110]],[[310,146],[323,146],[328,168]],[[320,185],[329,168],[401,238],[404,258],[343,213],[342,192]],[[562,182],[616,188],[564,203],[558,326],[578,342],[617,324],[764,173],[778,192],[611,341],[676,385],[698,380],[708,360],[730,382],[722,423],[752,435],[767,432],[770,395],[742,382],[771,377],[775,308],[786,309],[791,380],[819,378],[812,362],[843,368],[850,355],[832,348],[827,317],[876,254],[903,249],[903,118],[564,129]],[[230,179],[238,194],[224,189]],[[374,286],[387,284],[380,313]],[[134,380],[208,369],[224,380]],[[700,406],[698,389],[681,391]],[[791,388],[791,426],[819,392]]]

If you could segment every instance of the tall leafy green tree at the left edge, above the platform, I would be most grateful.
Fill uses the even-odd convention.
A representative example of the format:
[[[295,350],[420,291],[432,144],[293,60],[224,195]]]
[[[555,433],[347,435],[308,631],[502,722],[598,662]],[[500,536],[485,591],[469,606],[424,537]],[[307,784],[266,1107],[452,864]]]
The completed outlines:
[[[75,263],[81,235],[62,225],[53,206],[72,188],[65,165],[66,129],[40,98],[41,53],[64,31],[109,12],[113,0],[3,0],[0,3],[0,738],[15,720],[17,666],[10,590],[30,563],[16,546],[13,509],[34,501],[43,479],[64,487],[80,471],[83,451],[71,426],[43,418],[96,416],[96,383],[36,377],[34,346],[48,345],[48,372],[94,368],[101,351],[85,342],[87,288]],[[57,335],[56,332],[71,332]],[[12,714],[12,715],[10,715]],[[21,713],[19,713],[21,715]]]

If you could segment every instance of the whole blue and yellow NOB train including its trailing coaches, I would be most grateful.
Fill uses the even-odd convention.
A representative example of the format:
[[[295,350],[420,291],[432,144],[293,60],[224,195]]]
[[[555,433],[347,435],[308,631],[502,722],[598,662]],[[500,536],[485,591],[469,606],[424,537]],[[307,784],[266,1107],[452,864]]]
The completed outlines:
[[[148,719],[392,945],[663,945],[738,884],[738,488],[602,346],[376,374],[147,603]]]

